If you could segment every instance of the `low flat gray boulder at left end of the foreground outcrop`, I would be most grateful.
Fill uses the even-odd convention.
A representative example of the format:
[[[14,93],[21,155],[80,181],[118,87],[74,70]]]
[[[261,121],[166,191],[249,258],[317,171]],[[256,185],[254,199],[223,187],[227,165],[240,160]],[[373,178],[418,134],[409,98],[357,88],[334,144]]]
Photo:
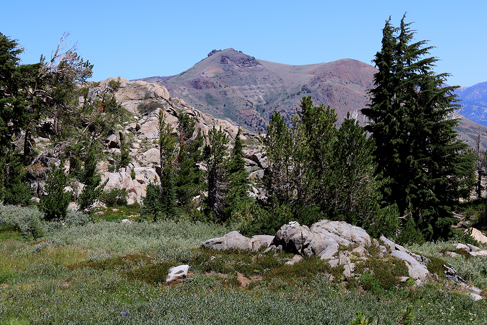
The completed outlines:
[[[267,248],[274,236],[256,235],[251,238],[245,237],[238,231],[230,231],[220,238],[212,238],[204,242],[201,246],[212,249],[251,249],[259,250]]]

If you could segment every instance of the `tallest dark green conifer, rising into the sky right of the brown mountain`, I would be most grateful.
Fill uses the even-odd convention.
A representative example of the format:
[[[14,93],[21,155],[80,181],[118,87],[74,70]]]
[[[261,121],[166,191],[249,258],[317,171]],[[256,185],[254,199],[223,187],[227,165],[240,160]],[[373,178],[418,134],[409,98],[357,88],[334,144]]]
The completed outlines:
[[[474,157],[453,130],[458,120],[449,118],[458,87],[443,87],[449,74],[434,73],[438,59],[427,57],[426,41],[411,43],[414,32],[404,19],[398,28],[386,21],[375,89],[362,113],[385,178],[383,204],[397,204],[402,216],[411,211],[425,239],[446,238],[455,222],[451,207],[468,195]]]

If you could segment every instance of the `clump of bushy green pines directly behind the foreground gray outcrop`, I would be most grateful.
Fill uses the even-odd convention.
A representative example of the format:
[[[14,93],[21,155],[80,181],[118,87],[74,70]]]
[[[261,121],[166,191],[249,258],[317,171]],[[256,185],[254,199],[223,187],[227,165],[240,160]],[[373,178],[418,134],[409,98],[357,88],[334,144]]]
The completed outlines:
[[[308,96],[293,123],[288,128],[275,112],[264,138],[267,217],[305,225],[326,218],[366,228],[388,219],[379,213],[374,143],[356,119],[348,115],[337,128],[334,110],[315,106]]]

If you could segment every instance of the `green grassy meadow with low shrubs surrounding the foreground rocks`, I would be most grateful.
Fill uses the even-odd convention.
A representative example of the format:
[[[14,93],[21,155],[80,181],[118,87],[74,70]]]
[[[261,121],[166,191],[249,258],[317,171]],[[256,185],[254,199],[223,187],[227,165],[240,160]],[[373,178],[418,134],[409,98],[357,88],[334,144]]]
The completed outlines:
[[[356,311],[397,324],[407,306],[413,324],[487,324],[485,302],[441,279],[417,288],[400,284],[387,274],[404,269],[384,261],[357,266],[364,275],[343,282],[342,269],[317,258],[287,266],[293,256],[282,252],[199,248],[230,230],[183,221],[100,221],[49,231],[40,241],[23,241],[11,227],[0,230],[0,324],[345,325]],[[486,258],[445,256],[455,249],[451,243],[410,249],[487,287]],[[180,264],[189,264],[191,275],[182,285],[162,286],[167,270]],[[242,277],[250,281],[245,287]]]

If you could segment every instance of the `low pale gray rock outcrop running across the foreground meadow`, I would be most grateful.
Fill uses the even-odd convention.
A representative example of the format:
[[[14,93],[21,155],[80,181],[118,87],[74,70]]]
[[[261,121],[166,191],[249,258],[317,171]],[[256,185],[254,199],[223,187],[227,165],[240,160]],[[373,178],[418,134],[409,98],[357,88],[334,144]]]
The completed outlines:
[[[353,260],[387,259],[391,256],[404,261],[408,268],[409,277],[401,281],[408,281],[411,278],[416,285],[420,285],[424,280],[438,280],[438,275],[431,274],[426,267],[426,264],[431,262],[427,257],[412,253],[384,236],[378,240],[371,239],[364,229],[340,221],[320,220],[309,228],[292,221],[283,225],[275,236],[258,235],[248,238],[238,231],[231,231],[223,237],[207,240],[202,247],[251,250],[265,248],[264,253],[271,250],[284,250],[295,254],[295,257],[286,263],[289,265],[299,263],[302,256],[316,255],[322,260],[328,260],[332,268],[342,265],[345,280],[356,277],[354,273],[356,265]],[[473,256],[487,253],[472,245],[458,244],[457,248],[465,249]],[[371,255],[370,251],[374,251],[376,256]],[[481,289],[468,286],[451,265],[444,267],[448,281],[471,291],[469,294],[473,299],[482,299]]]

